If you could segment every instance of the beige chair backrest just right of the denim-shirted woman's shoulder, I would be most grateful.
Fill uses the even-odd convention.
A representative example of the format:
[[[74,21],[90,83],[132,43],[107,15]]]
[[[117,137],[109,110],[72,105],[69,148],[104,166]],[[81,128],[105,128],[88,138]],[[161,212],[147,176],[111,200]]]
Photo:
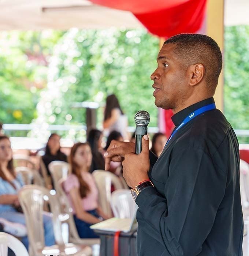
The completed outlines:
[[[19,166],[15,168],[15,171],[20,172],[23,181],[26,185],[32,184],[32,182],[38,186],[45,186],[44,180],[42,179],[40,173],[36,170],[32,170],[29,167]]]

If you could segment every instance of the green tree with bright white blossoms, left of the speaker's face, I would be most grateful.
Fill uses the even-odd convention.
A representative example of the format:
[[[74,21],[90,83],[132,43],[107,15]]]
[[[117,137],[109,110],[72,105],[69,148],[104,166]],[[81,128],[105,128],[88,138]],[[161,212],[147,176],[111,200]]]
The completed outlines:
[[[72,104],[94,101],[104,106],[105,97],[114,93],[129,125],[134,126],[135,112],[144,109],[151,115],[150,126],[157,126],[150,74],[157,65],[158,45],[144,29],[68,30],[49,63],[48,87],[38,106],[38,115],[45,117],[41,120],[85,124],[85,110]],[[100,108],[99,126],[102,121]]]

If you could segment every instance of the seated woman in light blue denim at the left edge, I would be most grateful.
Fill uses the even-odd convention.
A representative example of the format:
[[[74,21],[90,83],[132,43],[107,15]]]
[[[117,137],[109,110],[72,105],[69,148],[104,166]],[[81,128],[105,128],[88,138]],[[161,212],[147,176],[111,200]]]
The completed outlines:
[[[24,214],[18,212],[20,204],[17,192],[23,186],[21,174],[15,174],[12,159],[12,149],[7,136],[0,136],[0,217],[10,222],[25,225]],[[48,215],[43,216],[45,245],[55,244],[52,219]],[[27,236],[22,237],[23,244],[28,249]]]

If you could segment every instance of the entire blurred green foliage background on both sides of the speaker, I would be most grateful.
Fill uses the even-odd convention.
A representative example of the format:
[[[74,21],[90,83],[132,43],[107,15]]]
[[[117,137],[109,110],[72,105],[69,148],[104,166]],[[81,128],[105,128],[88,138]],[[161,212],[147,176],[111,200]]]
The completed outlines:
[[[235,129],[249,129],[249,26],[224,36],[224,112]],[[144,29],[1,32],[0,121],[85,124],[85,110],[72,104],[94,101],[101,126],[105,97],[115,93],[129,125],[144,109],[157,126],[150,74],[158,45]]]

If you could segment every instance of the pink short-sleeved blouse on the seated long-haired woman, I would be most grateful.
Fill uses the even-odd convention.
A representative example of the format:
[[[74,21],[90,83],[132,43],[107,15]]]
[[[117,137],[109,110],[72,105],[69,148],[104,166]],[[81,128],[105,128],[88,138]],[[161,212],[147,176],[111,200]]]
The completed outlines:
[[[81,205],[84,211],[91,211],[98,207],[98,189],[96,187],[93,176],[89,172],[83,172],[82,178],[88,184],[90,191],[85,198],[81,198]],[[64,182],[64,190],[67,194],[70,205],[73,208],[73,214],[75,214],[75,208],[69,193],[70,190],[74,187],[79,188],[79,180],[76,175],[70,174]]]

